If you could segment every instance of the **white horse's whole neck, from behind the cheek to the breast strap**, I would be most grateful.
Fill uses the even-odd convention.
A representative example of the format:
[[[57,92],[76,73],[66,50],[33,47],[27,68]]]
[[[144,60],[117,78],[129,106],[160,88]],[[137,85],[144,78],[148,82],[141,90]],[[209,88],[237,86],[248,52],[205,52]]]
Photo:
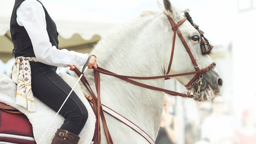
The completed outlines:
[[[158,17],[149,16],[134,20],[124,25],[121,30],[103,38],[91,52],[97,55],[98,65],[119,75],[164,75],[163,69],[169,60],[162,57],[166,51],[159,49],[165,46],[162,46],[164,42],[159,40],[161,36],[158,36],[158,33],[162,33],[159,32],[159,25],[156,25],[159,23]],[[164,61],[167,61],[165,65]],[[164,88],[164,79],[136,81]],[[163,92],[129,84],[113,76],[101,75],[101,100],[103,104],[136,122],[155,137],[156,133],[151,130],[155,129],[157,132],[160,124]]]

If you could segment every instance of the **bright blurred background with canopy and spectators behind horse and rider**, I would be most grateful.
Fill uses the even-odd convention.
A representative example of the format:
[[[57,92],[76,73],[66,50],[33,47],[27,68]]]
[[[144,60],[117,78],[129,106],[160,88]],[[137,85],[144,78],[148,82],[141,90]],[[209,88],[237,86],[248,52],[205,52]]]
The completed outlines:
[[[162,4],[161,0],[159,2]],[[222,97],[213,101],[196,102],[168,96],[168,112],[179,121],[174,143],[255,143],[256,0],[171,2],[179,9],[190,9],[194,23],[214,46],[210,57],[217,63],[224,80]],[[56,22],[59,48],[82,53],[89,53],[111,28],[144,10],[158,9],[156,0],[42,0],[42,3]],[[0,0],[0,73],[8,76],[11,76],[14,62],[9,31],[13,5],[14,0]],[[58,68],[58,71],[73,74],[66,68]],[[187,92],[175,80],[167,80],[165,88]]]

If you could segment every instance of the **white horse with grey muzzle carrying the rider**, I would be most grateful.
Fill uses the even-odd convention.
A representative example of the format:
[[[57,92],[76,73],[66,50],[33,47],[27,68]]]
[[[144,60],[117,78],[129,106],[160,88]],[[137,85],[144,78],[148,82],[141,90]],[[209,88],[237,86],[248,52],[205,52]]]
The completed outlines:
[[[172,65],[167,73],[174,43],[172,41],[174,31],[163,11],[175,23],[184,18],[184,11],[174,7],[169,0],[163,0],[163,2],[164,9],[145,11],[101,39],[91,52],[97,56],[98,66],[119,75],[140,77],[195,71],[195,66],[191,62],[186,48],[176,35]],[[185,21],[179,30],[191,49],[198,67],[202,69],[212,64],[213,60],[208,55],[202,55],[200,34],[191,23]],[[174,78],[182,85],[186,85],[194,75]],[[87,70],[85,77],[96,93],[93,70]],[[217,69],[210,69],[203,73],[203,79],[207,82],[207,87],[200,92],[198,98],[194,98],[198,101],[206,101],[210,97],[218,95],[222,85],[222,79],[220,79]],[[164,78],[136,81],[160,88],[164,88],[165,84]],[[104,74],[101,74],[100,83],[101,103],[129,119],[155,140],[164,106],[164,92],[146,89]],[[88,95],[89,91],[82,84],[81,87],[82,92]],[[196,89],[191,89],[191,91],[196,93]],[[105,117],[114,143],[149,143],[140,134],[112,116],[105,114]],[[107,139],[102,124],[101,129],[101,143],[106,144]]]

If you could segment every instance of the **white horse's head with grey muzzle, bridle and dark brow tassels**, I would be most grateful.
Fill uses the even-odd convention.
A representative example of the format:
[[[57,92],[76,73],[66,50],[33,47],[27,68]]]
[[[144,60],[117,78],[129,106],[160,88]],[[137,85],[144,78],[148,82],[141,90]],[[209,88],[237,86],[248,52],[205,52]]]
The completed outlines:
[[[175,30],[178,29],[176,40],[170,41],[170,39],[166,39],[166,41],[169,40],[169,45],[175,44],[172,47],[174,50],[172,51],[173,58],[171,58],[174,60],[169,63],[171,67],[167,74],[187,73],[207,68],[209,65],[214,64],[208,55],[213,46],[209,44],[209,41],[203,35],[204,33],[199,30],[198,25],[193,23],[188,10],[178,10],[169,0],[164,0],[164,8],[166,16],[169,16],[174,22],[172,24],[174,26],[169,28],[170,35],[173,35],[173,31],[176,33]],[[169,24],[169,21],[165,18],[165,23]],[[176,23],[177,25],[175,25]],[[180,37],[184,38],[185,42],[182,42]],[[190,74],[178,76],[175,79],[185,85],[188,90],[191,90],[195,95],[194,100],[197,101],[207,101],[209,98],[217,96],[220,93],[220,87],[223,82],[216,68],[207,70],[200,76]]]

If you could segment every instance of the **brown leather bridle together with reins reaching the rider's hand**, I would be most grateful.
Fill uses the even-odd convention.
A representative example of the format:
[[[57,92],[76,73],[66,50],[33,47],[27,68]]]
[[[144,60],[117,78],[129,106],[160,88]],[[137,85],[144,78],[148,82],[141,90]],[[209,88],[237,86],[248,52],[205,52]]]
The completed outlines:
[[[169,73],[170,71],[170,68],[171,68],[171,64],[172,64],[172,58],[173,58],[173,55],[174,55],[174,48],[175,48],[175,38],[176,38],[176,32],[178,33],[178,36],[180,37],[183,45],[185,46],[188,54],[190,55],[190,58],[192,60],[192,63],[194,64],[194,67],[196,69],[196,71],[192,71],[192,72],[188,72],[188,73],[180,73],[180,74],[171,74],[171,75],[162,75],[162,76],[151,76],[151,77],[138,77],[138,76],[126,76],[126,75],[118,75],[118,74],[114,74],[112,73],[111,71],[108,71],[106,69],[103,69],[103,68],[100,68],[98,66],[98,68],[94,68],[94,71],[97,71],[98,73],[102,73],[102,74],[106,74],[106,75],[111,75],[111,76],[114,76],[116,78],[119,78],[119,79],[122,79],[124,81],[127,81],[127,82],[130,82],[132,84],[135,84],[135,85],[138,85],[138,86],[141,86],[141,87],[145,87],[145,88],[148,88],[148,89],[152,89],[152,90],[157,90],[157,91],[163,91],[165,92],[166,94],[170,94],[170,95],[174,95],[174,96],[182,96],[182,97],[190,97],[190,98],[198,98],[198,95],[200,95],[200,91],[197,92],[196,96],[194,95],[191,95],[191,94],[183,94],[183,93],[178,93],[178,92],[174,92],[174,91],[170,91],[170,90],[166,90],[166,89],[161,89],[159,87],[154,87],[154,86],[149,86],[149,85],[145,85],[145,84],[142,84],[140,82],[137,82],[137,81],[134,81],[134,80],[131,80],[131,79],[144,79],[144,80],[148,80],[148,79],[160,79],[160,78],[165,78],[165,79],[168,79],[170,77],[176,77],[176,76],[184,76],[184,75],[191,75],[191,74],[196,74],[194,76],[193,79],[191,79],[187,85],[185,85],[185,87],[189,87],[194,84],[195,81],[197,81],[197,84],[199,85],[198,86],[198,89],[200,90],[200,86],[202,85],[202,78],[203,78],[203,73],[212,69],[212,68],[215,68],[215,63],[212,63],[210,64],[209,66],[207,66],[206,68],[203,68],[203,69],[199,69],[197,63],[196,63],[196,59],[194,59],[193,57],[193,54],[191,53],[191,50],[190,48],[188,47],[185,39],[183,38],[182,36],[182,33],[181,31],[178,29],[179,26],[181,26],[186,20],[187,18],[184,17],[180,22],[178,22],[177,24],[172,20],[172,18],[170,16],[168,16],[165,12],[164,14],[167,16],[168,20],[170,21],[171,23],[171,26],[172,26],[172,30],[174,31],[174,37],[173,37],[173,43],[172,43],[172,52],[171,52],[171,58],[170,58],[170,63],[169,63],[169,66],[168,66],[168,71],[166,74]]]

